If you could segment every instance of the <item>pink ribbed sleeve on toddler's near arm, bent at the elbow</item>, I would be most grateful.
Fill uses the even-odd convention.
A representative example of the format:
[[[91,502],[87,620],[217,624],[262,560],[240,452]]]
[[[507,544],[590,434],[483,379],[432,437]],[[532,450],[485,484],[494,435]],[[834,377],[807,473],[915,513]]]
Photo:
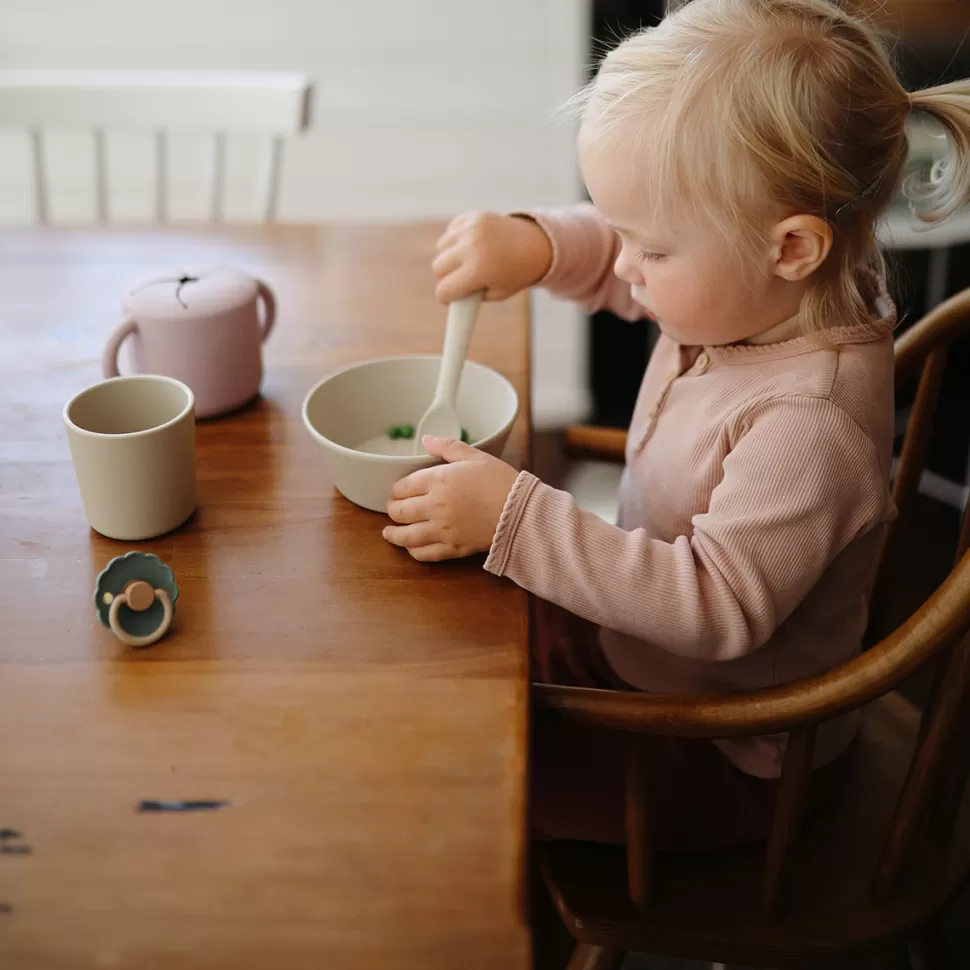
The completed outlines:
[[[708,509],[673,542],[609,525],[523,472],[485,568],[683,657],[757,650],[892,503],[872,441],[827,400],[759,405],[737,434]]]

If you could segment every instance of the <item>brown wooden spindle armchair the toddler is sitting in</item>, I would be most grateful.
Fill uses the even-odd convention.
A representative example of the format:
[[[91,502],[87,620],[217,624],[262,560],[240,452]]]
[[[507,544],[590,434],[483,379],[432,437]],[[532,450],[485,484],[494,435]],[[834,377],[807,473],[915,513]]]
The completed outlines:
[[[896,345],[899,385],[919,379],[894,481],[900,521],[911,511],[949,345],[970,333],[970,290]],[[622,457],[625,432],[571,429],[573,450]],[[894,531],[898,535],[898,530]],[[890,538],[873,611],[886,599]],[[757,967],[807,967],[873,957],[924,970],[947,962],[940,916],[970,873],[970,514],[958,562],[919,611],[824,676],[730,696],[673,696],[534,685],[538,716],[629,735],[626,849],[581,842],[537,848],[553,902],[578,942],[570,970],[616,968],[626,951]],[[925,714],[894,690],[936,661]],[[858,770],[839,807],[801,825],[817,726],[866,708]],[[727,738],[789,731],[773,824],[764,845],[656,854],[640,757],[643,735]]]

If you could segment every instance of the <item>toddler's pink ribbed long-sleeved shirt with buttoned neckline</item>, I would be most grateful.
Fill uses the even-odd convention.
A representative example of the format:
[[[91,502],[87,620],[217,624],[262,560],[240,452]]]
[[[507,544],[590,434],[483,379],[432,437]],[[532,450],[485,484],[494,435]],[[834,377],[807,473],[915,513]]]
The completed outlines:
[[[643,316],[613,275],[619,242],[591,206],[530,213],[553,244],[541,285],[589,311]],[[630,427],[617,525],[522,472],[485,568],[601,627],[607,660],[648,691],[731,692],[858,653],[885,527],[894,310],[830,346],[684,347],[661,336]],[[824,725],[816,765],[851,742]],[[717,742],[777,776],[785,737]]]

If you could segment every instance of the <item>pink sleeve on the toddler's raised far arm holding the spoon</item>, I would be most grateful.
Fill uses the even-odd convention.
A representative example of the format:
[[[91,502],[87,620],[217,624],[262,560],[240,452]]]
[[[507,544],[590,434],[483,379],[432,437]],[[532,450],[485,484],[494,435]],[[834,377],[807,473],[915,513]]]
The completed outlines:
[[[588,313],[610,310],[624,320],[644,318],[630,284],[613,272],[620,254],[619,237],[592,205],[515,214],[534,219],[552,243],[552,263],[537,286],[578,303]]]

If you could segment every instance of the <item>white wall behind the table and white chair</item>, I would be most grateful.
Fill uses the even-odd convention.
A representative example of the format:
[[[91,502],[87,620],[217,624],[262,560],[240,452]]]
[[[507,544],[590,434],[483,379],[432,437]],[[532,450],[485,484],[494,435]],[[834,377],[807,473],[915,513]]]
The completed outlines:
[[[588,0],[2,0],[0,10],[3,67],[308,74],[311,130],[288,149],[281,219],[445,217],[579,197],[573,132],[550,116],[582,78]],[[92,216],[83,139],[55,136],[55,218]],[[194,150],[204,165],[205,146]],[[114,151],[141,163],[129,166],[113,212],[150,218],[150,146],[135,138]],[[229,161],[227,211],[245,218],[233,185],[259,164],[258,146],[239,140]],[[30,218],[29,195],[14,190],[26,166],[14,142],[0,141],[0,221]],[[180,204],[193,211],[183,196],[174,216]],[[537,304],[539,421],[579,416],[584,324],[543,297]]]

